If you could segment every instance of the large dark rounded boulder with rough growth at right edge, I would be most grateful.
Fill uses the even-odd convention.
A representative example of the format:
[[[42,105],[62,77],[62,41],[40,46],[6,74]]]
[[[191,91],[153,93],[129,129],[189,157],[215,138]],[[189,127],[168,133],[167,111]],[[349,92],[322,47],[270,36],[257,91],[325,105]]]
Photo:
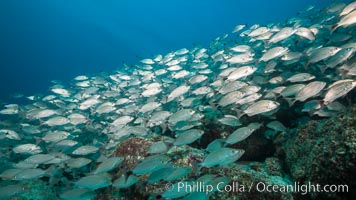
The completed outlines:
[[[300,184],[348,185],[348,193],[310,193],[312,199],[355,196],[356,106],[340,116],[313,120],[284,136],[277,155],[284,158],[293,181]],[[282,139],[283,140],[283,139]],[[281,140],[281,141],[282,141]],[[280,141],[280,142],[281,142]]]

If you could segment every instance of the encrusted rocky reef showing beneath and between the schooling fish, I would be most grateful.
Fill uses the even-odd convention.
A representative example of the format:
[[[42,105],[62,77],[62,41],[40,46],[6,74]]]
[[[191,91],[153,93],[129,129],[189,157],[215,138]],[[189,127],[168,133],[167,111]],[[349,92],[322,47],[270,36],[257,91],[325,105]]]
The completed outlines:
[[[356,106],[348,112],[330,118],[313,119],[304,125],[278,134],[270,141],[274,155],[266,154],[261,160],[258,151],[247,153],[250,156],[236,163],[215,168],[202,168],[199,172],[192,171],[182,181],[197,180],[201,175],[213,175],[214,178],[229,180],[227,185],[235,186],[235,191],[214,192],[209,199],[350,199],[355,195],[355,161],[356,161]],[[259,134],[259,133],[257,133]],[[159,138],[157,140],[161,140]],[[256,141],[255,141],[256,140]],[[247,146],[259,143],[261,137],[250,137]],[[134,156],[138,162],[147,157],[147,149],[153,141],[129,139],[117,148],[116,155]],[[126,148],[128,146],[140,146]],[[132,152],[129,151],[132,149]],[[132,154],[132,155],[131,155]],[[172,148],[167,154],[174,157],[174,163],[192,166],[203,159],[203,150],[185,146]],[[254,155],[256,154],[256,155]],[[247,159],[246,159],[247,158]],[[248,161],[256,158],[255,161]],[[198,176],[199,174],[199,176]],[[143,176],[141,183],[125,189],[124,193],[103,191],[96,199],[160,199],[167,182],[147,183]],[[266,185],[347,185],[348,192],[261,192],[256,184]],[[247,191],[247,186],[252,186]],[[261,190],[261,185],[259,186]],[[237,190],[237,191],[236,191]],[[240,190],[240,191],[239,191]],[[137,193],[140,193],[138,195]],[[131,194],[130,194],[131,193]],[[135,194],[135,195],[133,195]],[[122,196],[123,195],[123,196]],[[129,195],[129,196],[127,196]]]

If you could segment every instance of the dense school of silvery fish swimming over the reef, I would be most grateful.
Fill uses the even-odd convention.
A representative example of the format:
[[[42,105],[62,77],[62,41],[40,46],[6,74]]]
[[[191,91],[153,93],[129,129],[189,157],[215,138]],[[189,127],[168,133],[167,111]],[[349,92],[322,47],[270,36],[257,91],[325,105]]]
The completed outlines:
[[[296,124],[285,124],[285,113],[295,119],[333,117],[355,103],[355,23],[356,2],[311,6],[284,22],[237,25],[206,48],[156,55],[112,74],[80,75],[69,86],[55,83],[51,94],[27,97],[26,105],[2,105],[0,155],[6,164],[0,178],[6,186],[0,199],[43,177],[61,182],[61,199],[90,199],[97,189],[125,189],[145,175],[149,184],[228,182],[199,169],[238,161],[245,150],[232,146],[259,129],[287,132]],[[199,146],[210,131],[207,124],[227,135]],[[133,168],[123,165],[129,158],[113,154],[129,138],[156,135],[169,139],[154,142]],[[205,152],[198,170],[174,164],[167,154],[193,144]],[[123,175],[114,179],[113,170]],[[68,173],[77,175],[66,179]]]

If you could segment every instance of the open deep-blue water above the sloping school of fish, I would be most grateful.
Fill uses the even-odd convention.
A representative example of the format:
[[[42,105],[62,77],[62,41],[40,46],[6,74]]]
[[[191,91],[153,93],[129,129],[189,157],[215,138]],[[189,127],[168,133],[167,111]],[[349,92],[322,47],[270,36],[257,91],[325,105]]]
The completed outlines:
[[[51,80],[207,45],[237,24],[283,21],[332,0],[1,0],[0,99]]]

